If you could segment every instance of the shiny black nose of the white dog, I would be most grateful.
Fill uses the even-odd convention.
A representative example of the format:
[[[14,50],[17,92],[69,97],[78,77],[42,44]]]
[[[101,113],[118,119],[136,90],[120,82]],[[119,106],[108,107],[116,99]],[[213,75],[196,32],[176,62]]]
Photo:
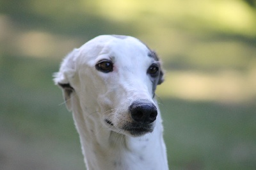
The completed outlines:
[[[138,123],[152,123],[156,120],[157,108],[152,102],[135,101],[129,107],[132,119]]]

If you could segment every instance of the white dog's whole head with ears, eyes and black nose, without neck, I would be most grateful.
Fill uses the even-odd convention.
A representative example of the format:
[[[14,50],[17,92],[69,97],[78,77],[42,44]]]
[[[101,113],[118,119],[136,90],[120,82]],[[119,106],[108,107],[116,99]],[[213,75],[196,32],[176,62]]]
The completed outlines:
[[[84,112],[96,109],[100,120],[95,121],[102,126],[132,136],[154,130],[154,96],[163,71],[156,53],[136,38],[94,38],[65,58],[54,81],[63,88],[68,109],[76,107],[70,104],[76,93]]]

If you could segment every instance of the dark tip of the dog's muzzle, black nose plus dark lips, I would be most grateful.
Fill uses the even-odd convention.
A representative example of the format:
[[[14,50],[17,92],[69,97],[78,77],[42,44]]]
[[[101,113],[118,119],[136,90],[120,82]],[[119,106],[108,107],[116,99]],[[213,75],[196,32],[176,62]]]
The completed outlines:
[[[154,130],[157,107],[149,100],[136,100],[129,106],[132,122],[124,126],[131,135],[143,135]]]

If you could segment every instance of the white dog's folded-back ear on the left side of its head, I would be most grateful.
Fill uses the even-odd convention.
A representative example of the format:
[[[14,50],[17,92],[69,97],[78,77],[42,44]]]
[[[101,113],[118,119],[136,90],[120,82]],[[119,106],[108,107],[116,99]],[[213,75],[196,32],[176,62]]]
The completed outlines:
[[[75,59],[78,55],[78,49],[74,49],[72,52],[70,52],[70,54],[68,54],[68,56],[65,59],[63,59],[63,62],[60,66],[60,71],[54,73],[53,75],[54,83],[60,86],[63,91],[65,104],[69,111],[71,110],[70,97],[74,92],[74,88],[72,87],[70,81],[74,78],[74,75],[76,73]]]

